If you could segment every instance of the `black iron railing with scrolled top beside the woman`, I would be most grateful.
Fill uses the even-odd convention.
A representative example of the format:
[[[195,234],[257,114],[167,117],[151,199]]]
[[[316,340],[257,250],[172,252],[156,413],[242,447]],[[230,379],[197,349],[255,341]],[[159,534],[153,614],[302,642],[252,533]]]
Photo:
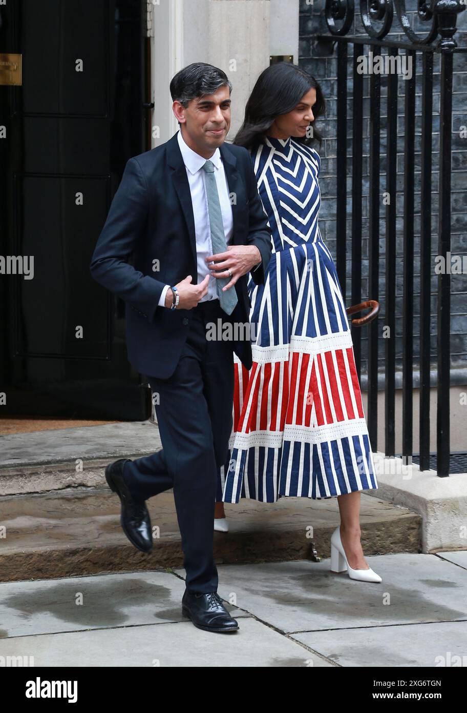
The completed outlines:
[[[394,7],[402,29],[394,30]],[[329,35],[318,36],[320,56],[332,54],[337,43],[337,227],[336,266],[345,292],[347,255],[347,48],[353,45],[353,128],[352,128],[352,304],[363,299],[379,299],[379,219],[380,219],[380,134],[381,74],[372,73],[369,80],[369,282],[368,294],[362,296],[362,125],[363,74],[359,63],[365,46],[374,56],[387,48],[389,66],[402,60],[411,62],[411,78],[406,78],[404,91],[404,252],[403,252],[403,329],[402,329],[402,455],[412,456],[413,439],[413,366],[414,366],[414,168],[416,64],[421,58],[421,256],[420,256],[420,443],[419,463],[430,468],[430,321],[431,321],[431,150],[433,133],[433,67],[434,54],[441,56],[440,78],[440,146],[439,146],[439,222],[438,255],[447,265],[451,249],[451,120],[453,55],[467,52],[454,39],[456,19],[466,9],[458,0],[418,0],[417,22],[426,27],[417,34],[409,21],[404,0],[362,0],[360,12],[368,36],[351,36],[354,23],[354,0],[327,0],[326,21]],[[389,31],[406,34],[407,41],[387,39]],[[397,194],[397,71],[388,72],[387,80],[387,152],[386,152],[386,255],[385,255],[385,327],[391,338],[385,340],[385,443],[387,456],[395,455],[395,372],[396,372],[396,194]],[[451,282],[447,270],[438,275],[437,292],[437,473],[448,476],[450,460],[450,322]],[[345,294],[344,294],[345,297]],[[374,320],[368,332],[368,406],[367,420],[372,448],[377,449],[377,371],[379,325]],[[352,335],[355,360],[360,373],[361,330]],[[432,466],[431,466],[432,467]]]

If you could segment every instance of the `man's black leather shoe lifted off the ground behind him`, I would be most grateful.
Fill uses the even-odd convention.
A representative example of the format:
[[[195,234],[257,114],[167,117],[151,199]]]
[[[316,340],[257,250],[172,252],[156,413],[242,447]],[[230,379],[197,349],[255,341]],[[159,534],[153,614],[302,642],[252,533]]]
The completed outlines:
[[[151,520],[145,502],[135,501],[123,478],[123,466],[130,462],[130,458],[120,458],[120,461],[110,463],[105,468],[105,480],[110,490],[117,493],[122,503],[120,511],[120,524],[132,545],[141,552],[152,550]]]

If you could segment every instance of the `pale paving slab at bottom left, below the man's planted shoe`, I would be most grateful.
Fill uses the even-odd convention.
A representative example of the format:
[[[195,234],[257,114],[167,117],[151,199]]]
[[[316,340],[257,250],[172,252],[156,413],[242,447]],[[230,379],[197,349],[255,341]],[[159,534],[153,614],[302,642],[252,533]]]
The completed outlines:
[[[35,667],[333,666],[251,617],[238,623],[238,632],[230,634],[204,632],[185,621],[14,637],[0,640],[0,656],[33,657]]]

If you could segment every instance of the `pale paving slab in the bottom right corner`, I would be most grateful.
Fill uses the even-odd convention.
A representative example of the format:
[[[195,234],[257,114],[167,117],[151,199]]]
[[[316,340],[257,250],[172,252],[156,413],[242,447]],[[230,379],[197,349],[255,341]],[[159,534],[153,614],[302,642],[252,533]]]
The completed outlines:
[[[467,667],[467,622],[305,632],[291,638],[340,666]]]

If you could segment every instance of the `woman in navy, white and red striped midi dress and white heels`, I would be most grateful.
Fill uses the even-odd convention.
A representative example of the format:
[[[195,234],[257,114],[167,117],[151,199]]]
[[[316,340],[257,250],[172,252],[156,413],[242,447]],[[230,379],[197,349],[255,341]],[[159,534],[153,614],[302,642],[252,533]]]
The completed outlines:
[[[221,501],[337,497],[331,569],[379,582],[360,544],[360,492],[378,487],[372,449],[345,303],[318,226],[320,156],[311,144],[323,111],[313,77],[273,64],[259,76],[234,141],[251,152],[273,255],[265,284],[248,285],[253,366],[248,372],[235,358],[216,529],[227,529]]]

